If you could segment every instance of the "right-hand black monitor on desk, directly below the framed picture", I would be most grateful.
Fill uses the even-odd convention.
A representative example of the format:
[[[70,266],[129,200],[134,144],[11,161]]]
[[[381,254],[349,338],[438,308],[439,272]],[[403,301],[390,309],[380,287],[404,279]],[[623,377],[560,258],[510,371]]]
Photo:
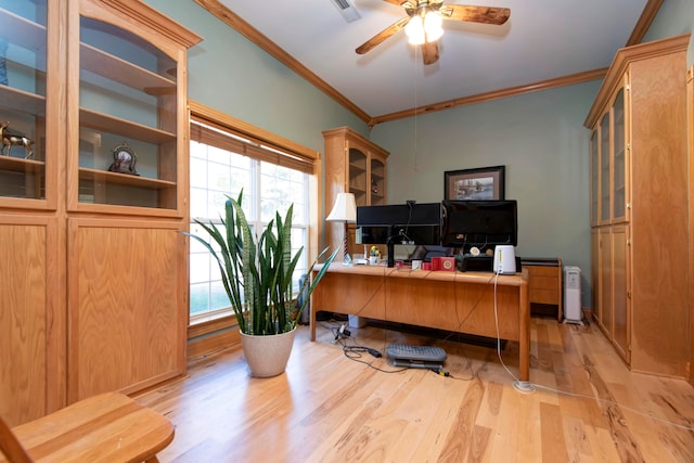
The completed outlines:
[[[441,244],[467,252],[497,245],[518,244],[517,204],[515,200],[449,201],[441,203]]]

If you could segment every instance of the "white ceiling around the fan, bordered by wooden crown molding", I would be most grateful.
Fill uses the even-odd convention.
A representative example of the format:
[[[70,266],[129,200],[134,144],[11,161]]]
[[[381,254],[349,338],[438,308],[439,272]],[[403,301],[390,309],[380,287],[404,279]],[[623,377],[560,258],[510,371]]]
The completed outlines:
[[[220,2],[371,117],[609,66],[647,0],[473,0],[511,9],[502,26],[445,21],[440,59],[422,64],[404,31],[364,55],[355,49],[406,15],[383,0]],[[447,3],[462,3],[448,0]]]

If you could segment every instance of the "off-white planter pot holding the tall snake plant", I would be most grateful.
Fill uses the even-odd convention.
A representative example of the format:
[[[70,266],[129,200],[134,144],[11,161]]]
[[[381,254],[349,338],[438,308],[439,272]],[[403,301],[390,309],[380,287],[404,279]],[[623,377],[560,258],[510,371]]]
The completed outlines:
[[[257,377],[277,376],[290,361],[296,329],[288,333],[254,336],[241,333],[241,345],[250,374]]]

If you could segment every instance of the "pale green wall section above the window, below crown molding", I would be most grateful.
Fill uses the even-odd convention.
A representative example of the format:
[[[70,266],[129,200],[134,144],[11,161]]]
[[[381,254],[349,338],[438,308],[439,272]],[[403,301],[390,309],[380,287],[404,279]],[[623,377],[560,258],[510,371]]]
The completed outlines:
[[[203,37],[189,51],[192,100],[323,152],[321,131],[367,125],[193,0],[145,0]]]

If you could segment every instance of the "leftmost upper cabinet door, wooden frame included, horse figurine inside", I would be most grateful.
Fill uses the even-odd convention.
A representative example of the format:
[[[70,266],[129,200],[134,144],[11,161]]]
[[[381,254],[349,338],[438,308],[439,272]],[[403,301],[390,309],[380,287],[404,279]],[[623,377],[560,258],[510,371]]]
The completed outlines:
[[[60,4],[47,0],[0,4],[0,207],[55,207],[52,147],[61,142],[46,116],[61,99],[60,88],[48,85],[60,79]]]

